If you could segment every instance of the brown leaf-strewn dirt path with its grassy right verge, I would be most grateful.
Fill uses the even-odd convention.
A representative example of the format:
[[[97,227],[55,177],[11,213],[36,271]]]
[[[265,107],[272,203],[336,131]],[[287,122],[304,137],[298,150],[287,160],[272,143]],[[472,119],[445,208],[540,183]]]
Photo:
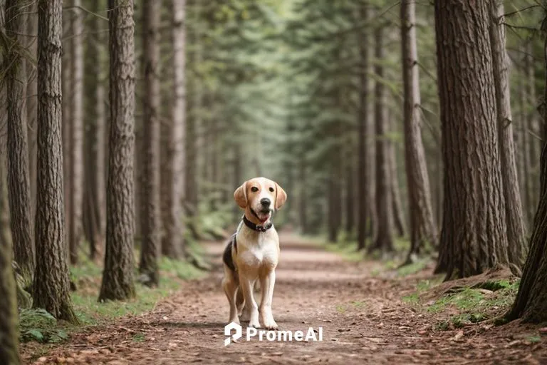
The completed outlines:
[[[228,307],[220,287],[223,244],[209,242],[215,269],[184,282],[150,312],[86,327],[48,347],[22,344],[27,364],[547,364],[541,327],[494,327],[513,279],[494,273],[490,289],[439,284],[429,264],[419,272],[352,262],[324,247],[281,237],[273,314],[281,330],[323,327],[323,341],[244,337],[224,346]],[[452,288],[452,290],[451,290]],[[462,289],[463,288],[463,289]],[[452,293],[447,295],[446,293]],[[454,294],[455,293],[455,294]],[[514,293],[513,293],[514,294]],[[481,321],[479,323],[472,323]]]

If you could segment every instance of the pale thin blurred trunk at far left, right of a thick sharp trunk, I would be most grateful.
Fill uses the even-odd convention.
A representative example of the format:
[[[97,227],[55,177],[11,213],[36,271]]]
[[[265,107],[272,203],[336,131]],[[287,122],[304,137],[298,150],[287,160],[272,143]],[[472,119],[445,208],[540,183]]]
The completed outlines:
[[[82,240],[83,209],[83,14],[81,1],[72,0],[71,38],[71,225],[68,242],[71,250],[71,263],[78,262],[78,252]]]

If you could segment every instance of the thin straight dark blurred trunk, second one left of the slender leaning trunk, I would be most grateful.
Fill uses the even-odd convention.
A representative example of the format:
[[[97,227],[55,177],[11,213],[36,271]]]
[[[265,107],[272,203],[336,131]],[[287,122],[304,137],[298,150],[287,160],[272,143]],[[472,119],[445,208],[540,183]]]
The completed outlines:
[[[368,21],[368,6],[360,6],[360,21]],[[370,118],[368,106],[369,94],[369,41],[368,30],[359,32],[359,112],[358,112],[358,215],[357,215],[357,247],[358,250],[365,248],[367,239],[368,210],[370,200]]]

